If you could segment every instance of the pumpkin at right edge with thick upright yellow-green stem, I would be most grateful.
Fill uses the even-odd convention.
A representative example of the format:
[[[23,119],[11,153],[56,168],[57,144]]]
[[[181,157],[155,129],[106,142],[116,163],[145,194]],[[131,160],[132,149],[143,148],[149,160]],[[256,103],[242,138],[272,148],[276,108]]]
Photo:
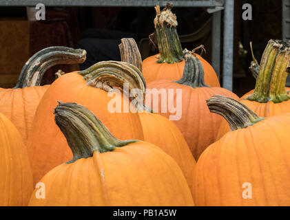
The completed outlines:
[[[253,57],[250,69],[256,63],[258,78],[256,87],[240,98],[240,102],[260,117],[269,117],[281,113],[290,113],[290,88],[285,88],[289,74],[290,43],[286,41],[270,40],[262,55],[260,67]],[[229,132],[229,125],[223,120],[216,140]]]

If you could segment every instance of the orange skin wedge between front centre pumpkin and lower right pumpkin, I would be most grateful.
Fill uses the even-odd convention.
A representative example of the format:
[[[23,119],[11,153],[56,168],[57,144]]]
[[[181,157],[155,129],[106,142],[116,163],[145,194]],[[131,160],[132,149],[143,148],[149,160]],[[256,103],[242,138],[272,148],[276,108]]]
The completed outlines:
[[[157,113],[139,113],[139,116],[145,142],[159,146],[171,156],[183,170],[187,184],[192,189],[196,161],[178,127]]]

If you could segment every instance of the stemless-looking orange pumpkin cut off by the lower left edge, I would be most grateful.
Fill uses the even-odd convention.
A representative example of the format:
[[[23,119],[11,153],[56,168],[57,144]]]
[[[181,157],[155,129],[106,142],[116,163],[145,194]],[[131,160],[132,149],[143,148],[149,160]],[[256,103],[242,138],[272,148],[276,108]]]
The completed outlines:
[[[0,113],[0,206],[27,206],[32,172],[21,134]]]

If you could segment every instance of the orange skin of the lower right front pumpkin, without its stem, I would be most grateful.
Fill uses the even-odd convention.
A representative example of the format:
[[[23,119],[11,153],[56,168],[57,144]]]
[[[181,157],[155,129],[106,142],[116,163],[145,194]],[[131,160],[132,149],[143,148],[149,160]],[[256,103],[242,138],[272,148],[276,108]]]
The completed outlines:
[[[197,206],[290,206],[290,114],[231,131],[196,164]],[[252,185],[243,199],[242,184]]]

